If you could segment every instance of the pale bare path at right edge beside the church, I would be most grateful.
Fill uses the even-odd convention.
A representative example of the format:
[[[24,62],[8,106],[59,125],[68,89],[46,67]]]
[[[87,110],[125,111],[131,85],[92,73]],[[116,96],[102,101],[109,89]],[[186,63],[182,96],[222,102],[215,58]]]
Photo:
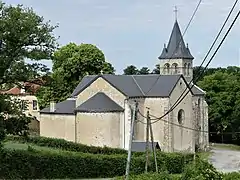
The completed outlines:
[[[218,171],[240,171],[240,151],[214,148],[209,160]]]

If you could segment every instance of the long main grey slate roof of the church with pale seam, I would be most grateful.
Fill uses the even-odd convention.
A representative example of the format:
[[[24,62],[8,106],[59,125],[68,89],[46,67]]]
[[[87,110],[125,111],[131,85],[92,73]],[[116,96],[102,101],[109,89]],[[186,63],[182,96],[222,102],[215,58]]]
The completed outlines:
[[[99,77],[104,78],[113,87],[128,97],[169,97],[182,75],[151,74],[86,76],[79,83],[71,96],[77,96]]]

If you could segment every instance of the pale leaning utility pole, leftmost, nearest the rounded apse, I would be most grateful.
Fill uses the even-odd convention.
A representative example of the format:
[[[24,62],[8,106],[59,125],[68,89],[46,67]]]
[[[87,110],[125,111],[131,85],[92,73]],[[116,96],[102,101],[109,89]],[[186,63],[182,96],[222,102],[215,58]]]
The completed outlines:
[[[135,117],[138,109],[138,103],[135,101],[135,105],[133,108],[133,113],[131,117],[131,129],[130,129],[130,138],[129,138],[129,147],[128,147],[128,157],[127,157],[127,166],[126,166],[126,174],[125,180],[129,179],[129,171],[130,171],[130,164],[131,164],[131,156],[132,156],[132,140],[133,140],[133,132],[134,132],[134,125],[135,125]]]

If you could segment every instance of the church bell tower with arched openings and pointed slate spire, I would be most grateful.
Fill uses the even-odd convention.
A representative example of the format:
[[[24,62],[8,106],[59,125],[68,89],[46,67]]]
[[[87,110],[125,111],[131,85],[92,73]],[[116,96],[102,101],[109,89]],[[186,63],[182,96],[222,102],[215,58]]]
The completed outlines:
[[[173,30],[166,46],[158,57],[160,60],[160,74],[182,74],[189,82],[193,78],[193,59],[188,45],[186,46],[176,18]]]

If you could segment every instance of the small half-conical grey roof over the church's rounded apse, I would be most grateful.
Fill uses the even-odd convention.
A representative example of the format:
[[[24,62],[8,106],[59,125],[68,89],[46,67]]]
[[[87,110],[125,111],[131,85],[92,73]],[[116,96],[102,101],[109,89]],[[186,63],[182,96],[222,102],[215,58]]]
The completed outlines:
[[[93,97],[76,108],[77,112],[123,112],[124,109],[110,99],[103,92],[95,94]]]

